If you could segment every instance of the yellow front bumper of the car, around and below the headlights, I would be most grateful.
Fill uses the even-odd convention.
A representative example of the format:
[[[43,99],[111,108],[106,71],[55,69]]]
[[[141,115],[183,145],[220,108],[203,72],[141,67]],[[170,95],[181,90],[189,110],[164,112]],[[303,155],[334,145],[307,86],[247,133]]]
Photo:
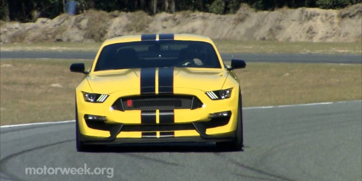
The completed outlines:
[[[123,126],[129,125],[141,125],[141,111],[140,110],[127,110],[119,111],[111,109],[112,104],[119,97],[130,96],[135,94],[132,90],[119,91],[110,94],[107,100],[101,104],[85,102],[83,95],[77,91],[77,121],[79,124],[79,131],[81,140],[83,142],[127,142],[123,138],[136,139],[142,138],[142,132],[144,131],[122,131]],[[182,137],[195,137],[196,139],[231,139],[234,138],[234,132],[237,124],[237,106],[238,98],[237,90],[233,90],[230,98],[225,100],[211,100],[204,91],[187,89],[187,88],[175,88],[175,92],[178,94],[192,94],[197,96],[202,102],[203,106],[194,110],[190,109],[175,109],[174,111],[174,123],[173,125],[192,125],[194,129],[188,130],[173,130],[174,138]],[[216,126],[210,126],[216,122],[209,118],[209,114],[230,111],[230,117],[227,121]],[[97,123],[89,122],[84,119],[85,114],[102,115],[105,116],[107,121]],[[158,124],[158,123],[157,123]],[[208,126],[209,125],[209,126]],[[146,130],[147,131],[147,130]],[[169,130],[172,131],[172,130]],[[160,138],[160,134],[163,130],[156,131],[156,138]],[[150,138],[151,141],[154,138]],[[145,140],[145,138],[142,138]],[[147,139],[148,140],[148,139]],[[139,140],[141,141],[141,140]],[[153,140],[158,142],[158,140]],[[143,141],[142,141],[143,142]],[[111,143],[110,143],[111,144]]]

